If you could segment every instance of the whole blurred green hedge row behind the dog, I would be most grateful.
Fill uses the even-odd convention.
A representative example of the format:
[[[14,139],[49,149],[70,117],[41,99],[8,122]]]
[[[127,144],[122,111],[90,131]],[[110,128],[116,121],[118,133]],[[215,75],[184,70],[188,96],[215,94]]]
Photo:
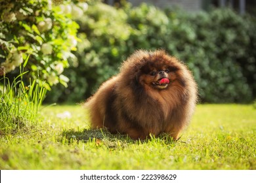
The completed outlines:
[[[207,103],[248,102],[255,95],[255,20],[230,9],[187,13],[142,4],[122,9],[92,4],[77,23],[78,65],[64,73],[68,88],[48,101],[82,101],[115,75],[134,50],[163,48],[194,73]],[[62,92],[59,92],[62,91]],[[65,93],[69,97],[58,95]]]

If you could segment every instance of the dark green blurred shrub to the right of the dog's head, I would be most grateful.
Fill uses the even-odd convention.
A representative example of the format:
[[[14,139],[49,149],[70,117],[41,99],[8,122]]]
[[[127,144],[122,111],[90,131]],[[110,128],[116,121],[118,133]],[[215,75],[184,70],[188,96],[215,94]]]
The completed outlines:
[[[178,50],[178,57],[186,61],[198,82],[200,98],[204,102],[248,102],[252,99],[252,88],[244,76],[238,59],[246,61],[249,46],[251,20],[239,16],[230,9],[213,10],[187,15],[182,26],[173,29],[185,37],[171,36]],[[172,34],[173,34],[172,33]],[[172,40],[173,40],[172,39]],[[171,45],[169,46],[171,48]]]

